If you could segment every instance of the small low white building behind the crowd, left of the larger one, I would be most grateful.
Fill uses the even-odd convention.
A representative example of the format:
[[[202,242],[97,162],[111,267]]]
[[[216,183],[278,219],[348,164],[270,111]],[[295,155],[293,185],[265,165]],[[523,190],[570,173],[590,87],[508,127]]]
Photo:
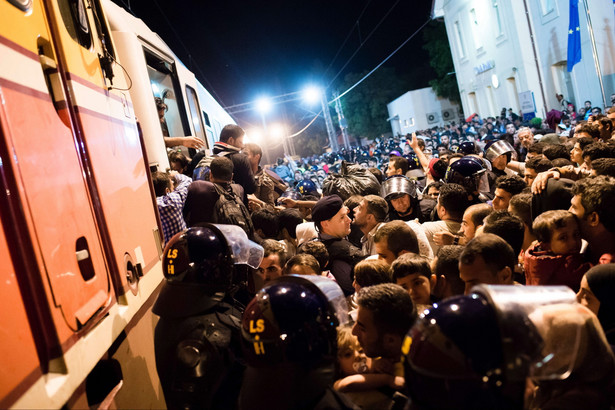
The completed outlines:
[[[430,87],[408,91],[387,104],[393,135],[459,122],[459,106],[440,98]]]

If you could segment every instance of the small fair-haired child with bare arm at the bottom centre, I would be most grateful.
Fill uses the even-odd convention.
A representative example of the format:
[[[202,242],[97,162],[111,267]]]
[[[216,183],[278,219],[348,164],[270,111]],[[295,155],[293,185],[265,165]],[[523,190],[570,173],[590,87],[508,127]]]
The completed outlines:
[[[363,353],[350,326],[340,327],[337,330],[336,375],[337,381],[333,384],[333,388],[346,394],[351,393],[349,398],[361,407],[370,404],[368,406],[370,408],[387,408],[387,406],[373,406],[375,402],[389,400],[377,389],[390,387],[401,390],[404,386],[403,377],[374,372],[371,359]]]

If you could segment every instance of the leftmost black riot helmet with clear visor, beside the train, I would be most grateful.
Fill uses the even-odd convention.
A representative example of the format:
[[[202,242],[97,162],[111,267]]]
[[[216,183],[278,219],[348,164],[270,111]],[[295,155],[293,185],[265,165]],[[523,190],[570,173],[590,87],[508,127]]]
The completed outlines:
[[[169,240],[162,256],[166,279],[152,311],[182,317],[214,306],[229,290],[235,264],[258,268],[263,248],[235,225],[202,224]]]

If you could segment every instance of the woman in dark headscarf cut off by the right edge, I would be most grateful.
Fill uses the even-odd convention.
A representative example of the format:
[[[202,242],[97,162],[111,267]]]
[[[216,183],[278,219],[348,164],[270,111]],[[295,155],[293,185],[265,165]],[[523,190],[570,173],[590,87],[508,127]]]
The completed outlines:
[[[615,263],[597,265],[585,273],[577,300],[600,320],[609,344],[615,345]]]

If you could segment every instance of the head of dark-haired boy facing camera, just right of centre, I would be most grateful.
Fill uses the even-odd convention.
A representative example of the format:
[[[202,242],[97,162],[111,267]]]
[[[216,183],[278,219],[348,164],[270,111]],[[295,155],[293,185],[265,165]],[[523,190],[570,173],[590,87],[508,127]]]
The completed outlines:
[[[410,294],[412,302],[418,305],[431,305],[431,289],[436,277],[432,275],[429,260],[414,253],[404,253],[391,265],[393,281]]]

